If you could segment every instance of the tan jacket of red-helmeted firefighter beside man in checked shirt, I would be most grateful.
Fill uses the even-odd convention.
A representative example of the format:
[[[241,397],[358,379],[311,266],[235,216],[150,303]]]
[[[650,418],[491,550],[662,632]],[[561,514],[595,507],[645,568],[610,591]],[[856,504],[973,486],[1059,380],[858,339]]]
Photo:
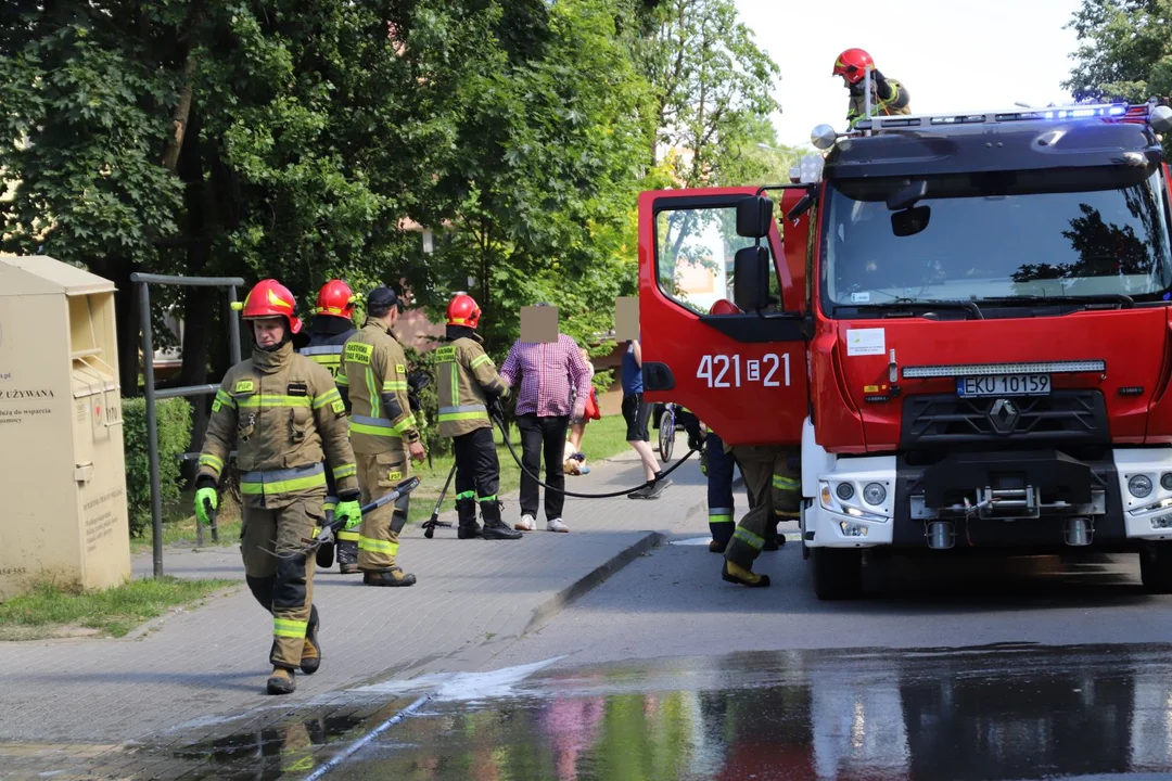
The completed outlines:
[[[509,392],[492,358],[476,338],[461,336],[436,348],[436,385],[441,437],[491,429],[488,399]]]

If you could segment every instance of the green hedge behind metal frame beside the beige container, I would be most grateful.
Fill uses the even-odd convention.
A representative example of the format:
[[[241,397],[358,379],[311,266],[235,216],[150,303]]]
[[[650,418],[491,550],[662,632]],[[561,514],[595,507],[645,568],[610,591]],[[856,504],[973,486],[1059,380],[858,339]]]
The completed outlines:
[[[191,444],[191,404],[183,398],[155,403],[158,419],[158,477],[163,506],[179,499],[180,454]],[[122,400],[123,437],[127,451],[127,507],[130,536],[139,537],[150,528],[150,461],[146,445],[146,399]]]

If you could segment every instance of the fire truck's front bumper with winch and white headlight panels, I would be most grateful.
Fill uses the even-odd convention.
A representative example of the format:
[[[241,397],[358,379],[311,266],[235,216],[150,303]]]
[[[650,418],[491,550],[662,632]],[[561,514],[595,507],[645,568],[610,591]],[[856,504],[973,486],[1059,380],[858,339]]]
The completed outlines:
[[[802,530],[811,548],[1134,550],[1172,540],[1167,447],[1086,461],[1036,450],[950,453],[928,466],[895,455],[819,466],[805,480]]]

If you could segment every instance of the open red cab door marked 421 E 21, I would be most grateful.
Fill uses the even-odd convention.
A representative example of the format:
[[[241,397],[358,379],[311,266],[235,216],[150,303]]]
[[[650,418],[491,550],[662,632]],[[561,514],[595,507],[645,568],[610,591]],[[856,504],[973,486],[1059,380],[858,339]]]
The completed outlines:
[[[783,206],[805,194],[786,191]],[[730,445],[798,445],[809,409],[806,226],[791,261],[771,212],[758,238],[738,233],[756,187],[666,190],[639,197],[639,322],[648,402],[691,410]],[[766,227],[768,226],[768,227]],[[766,232],[768,231],[768,232]],[[763,234],[763,235],[762,235]],[[798,235],[800,234],[800,235]],[[716,301],[741,311],[709,314]]]

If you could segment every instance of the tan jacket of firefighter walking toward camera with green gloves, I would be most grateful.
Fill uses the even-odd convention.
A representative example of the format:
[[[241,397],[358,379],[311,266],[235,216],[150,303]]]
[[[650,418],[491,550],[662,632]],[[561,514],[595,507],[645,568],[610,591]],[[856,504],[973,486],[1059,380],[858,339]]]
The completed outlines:
[[[218,484],[233,445],[240,493],[251,507],[273,509],[323,495],[327,468],[339,493],[357,491],[342,397],[329,372],[288,342],[271,352],[253,350],[224,375],[199,474]]]

